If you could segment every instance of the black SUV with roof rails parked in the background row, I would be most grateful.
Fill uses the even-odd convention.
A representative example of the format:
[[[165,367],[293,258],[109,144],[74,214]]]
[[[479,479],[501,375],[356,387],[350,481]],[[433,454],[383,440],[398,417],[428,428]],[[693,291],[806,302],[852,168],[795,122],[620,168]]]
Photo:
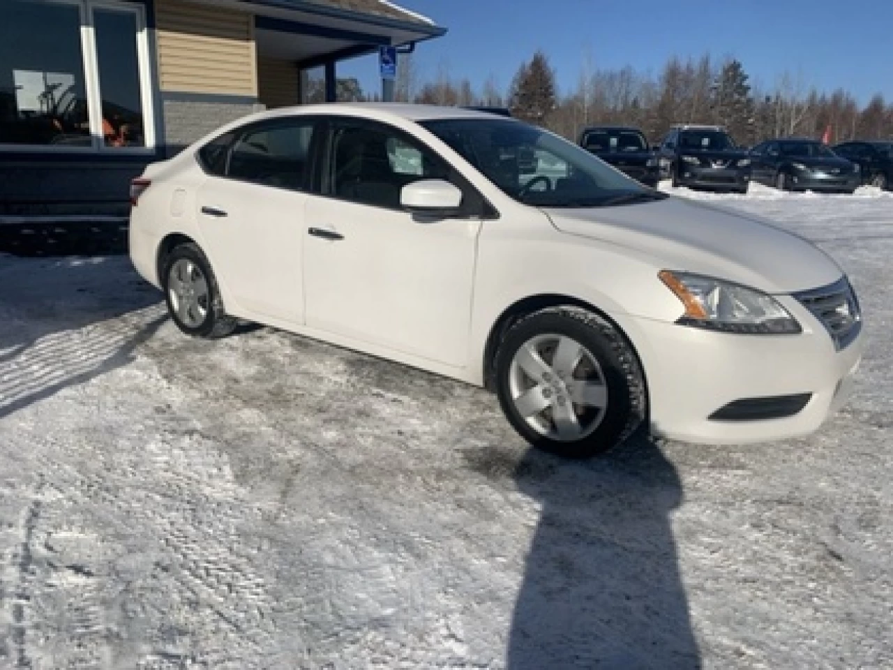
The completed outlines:
[[[673,126],[661,142],[658,166],[673,186],[747,193],[750,184],[750,157],[722,126]]]

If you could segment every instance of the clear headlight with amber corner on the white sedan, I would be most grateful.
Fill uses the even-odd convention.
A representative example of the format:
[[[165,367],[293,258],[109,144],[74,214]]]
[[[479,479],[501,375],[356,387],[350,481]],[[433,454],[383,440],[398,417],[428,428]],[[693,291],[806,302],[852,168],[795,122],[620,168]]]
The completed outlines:
[[[677,321],[682,325],[749,335],[803,331],[778,300],[762,291],[687,272],[664,270],[658,276],[685,306]]]

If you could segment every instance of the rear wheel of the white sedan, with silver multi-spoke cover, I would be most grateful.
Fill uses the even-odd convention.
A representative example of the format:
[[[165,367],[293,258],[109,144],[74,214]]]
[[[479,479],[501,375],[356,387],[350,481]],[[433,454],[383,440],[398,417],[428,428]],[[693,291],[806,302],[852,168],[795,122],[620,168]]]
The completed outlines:
[[[226,314],[211,264],[191,242],[174,247],[164,259],[164,299],[180,331],[198,338],[222,338],[238,319]]]

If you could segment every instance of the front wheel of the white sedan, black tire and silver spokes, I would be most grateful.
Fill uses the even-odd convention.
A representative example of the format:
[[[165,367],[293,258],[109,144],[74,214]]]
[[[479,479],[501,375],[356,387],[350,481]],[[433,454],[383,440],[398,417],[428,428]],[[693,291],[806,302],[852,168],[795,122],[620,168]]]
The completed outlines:
[[[647,413],[645,379],[630,343],[580,307],[549,307],[514,323],[497,348],[494,372],[509,423],[534,447],[560,456],[587,458],[612,448]]]

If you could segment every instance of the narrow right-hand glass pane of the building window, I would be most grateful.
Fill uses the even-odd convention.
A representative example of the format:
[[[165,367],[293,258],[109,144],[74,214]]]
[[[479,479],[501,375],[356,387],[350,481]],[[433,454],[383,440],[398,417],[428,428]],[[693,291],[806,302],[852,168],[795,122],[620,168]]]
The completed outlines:
[[[93,25],[105,146],[145,147],[136,14],[96,9]]]

